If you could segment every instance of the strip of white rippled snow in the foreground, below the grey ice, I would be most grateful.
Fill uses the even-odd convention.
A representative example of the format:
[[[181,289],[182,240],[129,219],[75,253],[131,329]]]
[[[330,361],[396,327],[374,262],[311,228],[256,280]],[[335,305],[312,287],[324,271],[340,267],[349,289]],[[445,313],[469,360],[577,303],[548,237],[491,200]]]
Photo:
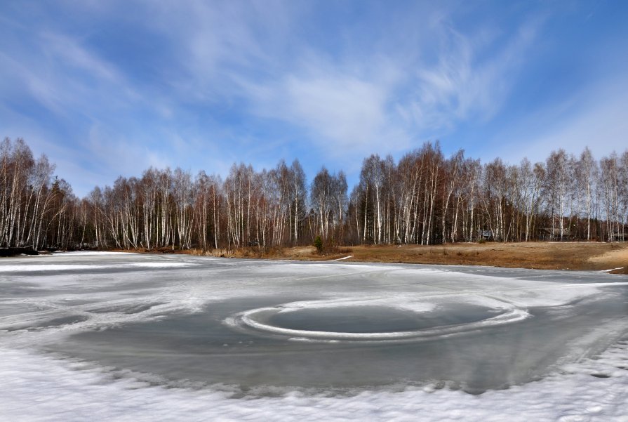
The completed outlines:
[[[349,397],[230,398],[211,389],[112,381],[105,370],[0,349],[4,421],[628,421],[628,341],[565,373],[469,395],[430,385]]]

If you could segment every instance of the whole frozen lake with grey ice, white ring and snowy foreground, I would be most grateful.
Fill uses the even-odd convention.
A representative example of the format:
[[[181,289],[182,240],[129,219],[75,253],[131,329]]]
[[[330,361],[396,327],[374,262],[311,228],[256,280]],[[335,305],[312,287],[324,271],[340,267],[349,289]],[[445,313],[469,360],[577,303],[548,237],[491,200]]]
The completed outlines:
[[[6,258],[0,342],[11,421],[628,420],[606,273]]]

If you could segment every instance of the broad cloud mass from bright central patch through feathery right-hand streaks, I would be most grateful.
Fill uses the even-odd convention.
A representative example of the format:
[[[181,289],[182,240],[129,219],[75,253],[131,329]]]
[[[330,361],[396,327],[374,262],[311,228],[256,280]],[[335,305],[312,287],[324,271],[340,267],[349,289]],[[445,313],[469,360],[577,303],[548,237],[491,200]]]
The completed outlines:
[[[255,114],[305,128],[328,158],[406,150],[461,121],[495,117],[542,22],[524,23],[497,48],[496,34],[462,34],[447,19],[442,11],[427,16],[433,34],[422,33],[411,51],[356,50],[338,61],[305,49],[279,79],[234,81]],[[430,44],[439,46],[435,60],[423,51]]]

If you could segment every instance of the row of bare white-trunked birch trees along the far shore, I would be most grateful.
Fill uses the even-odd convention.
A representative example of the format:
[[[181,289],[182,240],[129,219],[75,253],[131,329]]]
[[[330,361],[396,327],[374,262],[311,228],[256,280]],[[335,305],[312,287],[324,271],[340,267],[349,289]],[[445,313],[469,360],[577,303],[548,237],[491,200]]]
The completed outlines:
[[[0,145],[0,246],[237,249],[312,244],[439,244],[628,237],[628,150],[596,160],[556,150],[545,161],[486,164],[425,143],[399,161],[363,160],[349,193],[324,166],[308,183],[298,160],[225,180],[180,168],[120,176],[78,198],[22,139]]]

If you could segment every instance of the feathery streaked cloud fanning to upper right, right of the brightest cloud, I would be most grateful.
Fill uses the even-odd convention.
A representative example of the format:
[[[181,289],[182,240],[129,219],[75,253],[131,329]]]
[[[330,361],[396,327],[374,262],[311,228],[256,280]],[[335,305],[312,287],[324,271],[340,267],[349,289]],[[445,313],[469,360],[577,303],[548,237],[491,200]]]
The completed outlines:
[[[507,100],[541,22],[526,22],[505,46],[497,48],[495,34],[483,30],[477,36],[462,34],[441,20],[435,28],[436,63],[423,60],[407,106],[417,128],[428,132],[448,131],[468,119],[492,119]],[[482,59],[492,48],[497,51]]]

